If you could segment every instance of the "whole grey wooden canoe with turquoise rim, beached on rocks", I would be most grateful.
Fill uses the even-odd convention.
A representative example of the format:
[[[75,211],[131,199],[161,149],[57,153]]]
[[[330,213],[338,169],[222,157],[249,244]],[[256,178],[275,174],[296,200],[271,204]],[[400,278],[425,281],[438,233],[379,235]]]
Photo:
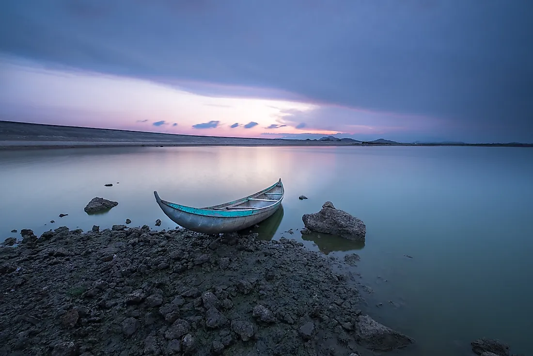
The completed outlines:
[[[192,208],[161,200],[156,201],[174,223],[206,234],[235,232],[260,223],[272,216],[281,205],[285,189],[281,179],[276,184],[241,199],[205,208]]]

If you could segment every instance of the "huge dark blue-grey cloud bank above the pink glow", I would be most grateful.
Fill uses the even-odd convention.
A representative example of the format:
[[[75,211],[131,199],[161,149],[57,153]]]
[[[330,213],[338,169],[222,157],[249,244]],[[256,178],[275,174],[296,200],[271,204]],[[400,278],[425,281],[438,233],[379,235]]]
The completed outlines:
[[[165,83],[275,88],[533,141],[532,14],[529,0],[5,0],[0,51]]]

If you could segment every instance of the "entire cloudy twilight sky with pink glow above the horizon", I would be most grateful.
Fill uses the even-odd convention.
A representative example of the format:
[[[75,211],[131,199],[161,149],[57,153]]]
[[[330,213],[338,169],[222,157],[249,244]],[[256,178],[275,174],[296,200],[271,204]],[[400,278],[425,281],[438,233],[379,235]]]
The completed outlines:
[[[0,120],[533,142],[530,0],[3,0]]]

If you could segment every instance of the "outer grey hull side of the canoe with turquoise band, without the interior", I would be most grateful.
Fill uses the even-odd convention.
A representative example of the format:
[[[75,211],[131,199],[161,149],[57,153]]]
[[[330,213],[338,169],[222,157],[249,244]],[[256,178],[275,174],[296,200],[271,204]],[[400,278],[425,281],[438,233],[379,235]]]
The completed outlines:
[[[278,184],[281,185],[281,180]],[[272,187],[276,187],[276,185]],[[271,189],[272,187],[268,189]],[[281,192],[283,192],[282,185]],[[256,194],[259,194],[259,192]],[[276,202],[263,208],[222,210],[209,209],[213,207],[185,207],[183,205],[161,200],[157,192],[154,192],[154,195],[161,210],[163,210],[165,215],[174,221],[174,223],[187,228],[188,230],[206,234],[236,232],[254,226],[271,217],[273,213],[279,209],[283,199],[283,194],[281,194],[279,200],[276,200]],[[221,205],[217,205],[217,207],[219,206]]]

